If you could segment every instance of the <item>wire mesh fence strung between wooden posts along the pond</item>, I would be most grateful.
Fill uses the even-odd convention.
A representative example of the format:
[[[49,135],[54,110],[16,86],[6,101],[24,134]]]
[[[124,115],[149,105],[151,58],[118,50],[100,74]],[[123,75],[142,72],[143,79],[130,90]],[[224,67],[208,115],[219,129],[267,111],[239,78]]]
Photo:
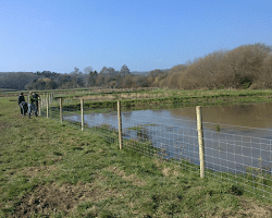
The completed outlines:
[[[119,142],[116,107],[110,112],[94,112],[79,99],[63,100],[64,123],[99,133],[109,143]],[[59,119],[59,101],[51,101],[41,116]],[[123,111],[122,146],[140,155],[158,158],[199,174],[199,137],[197,121],[176,119],[160,112]],[[271,130],[202,122],[205,177],[231,181],[240,189],[272,199]]]

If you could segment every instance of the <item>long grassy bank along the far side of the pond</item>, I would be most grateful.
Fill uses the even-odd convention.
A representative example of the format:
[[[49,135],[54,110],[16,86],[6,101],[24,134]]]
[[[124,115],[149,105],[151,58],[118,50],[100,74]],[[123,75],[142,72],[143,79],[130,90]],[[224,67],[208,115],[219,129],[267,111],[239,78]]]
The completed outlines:
[[[236,105],[254,102],[272,102],[272,90],[175,90],[152,89],[138,93],[123,94],[94,94],[74,95],[69,104],[63,105],[64,110],[79,110],[79,98],[85,99],[85,110],[116,109],[116,101],[121,100],[123,110],[141,109],[170,109],[194,107],[197,105]],[[58,98],[58,95],[55,96]],[[73,98],[73,100],[72,100]],[[58,105],[58,102],[57,102]]]

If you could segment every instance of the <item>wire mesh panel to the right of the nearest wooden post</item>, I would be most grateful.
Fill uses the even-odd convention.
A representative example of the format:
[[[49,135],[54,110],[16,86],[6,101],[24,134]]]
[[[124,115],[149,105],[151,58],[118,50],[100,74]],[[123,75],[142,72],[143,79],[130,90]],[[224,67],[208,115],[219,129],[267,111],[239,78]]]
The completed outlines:
[[[205,124],[206,177],[233,181],[245,191],[272,199],[271,131],[219,123]]]

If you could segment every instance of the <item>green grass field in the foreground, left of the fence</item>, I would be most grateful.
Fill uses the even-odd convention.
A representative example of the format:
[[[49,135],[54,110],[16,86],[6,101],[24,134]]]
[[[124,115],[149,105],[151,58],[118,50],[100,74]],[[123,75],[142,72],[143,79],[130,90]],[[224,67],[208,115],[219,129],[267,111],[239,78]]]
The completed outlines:
[[[2,95],[0,108],[0,217],[272,216],[271,202],[236,184],[120,150],[99,133],[21,117],[16,96]]]

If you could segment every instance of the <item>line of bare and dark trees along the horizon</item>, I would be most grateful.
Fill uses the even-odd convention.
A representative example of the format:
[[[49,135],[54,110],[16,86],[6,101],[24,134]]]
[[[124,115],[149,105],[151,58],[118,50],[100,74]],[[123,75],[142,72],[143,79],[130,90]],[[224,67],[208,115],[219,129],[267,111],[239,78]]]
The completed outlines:
[[[120,71],[91,66],[84,73],[75,68],[70,74],[50,71],[0,73],[0,88],[66,89],[81,87],[168,87],[178,89],[272,88],[272,47],[264,44],[243,45],[219,50],[169,70],[134,74],[124,64]]]

